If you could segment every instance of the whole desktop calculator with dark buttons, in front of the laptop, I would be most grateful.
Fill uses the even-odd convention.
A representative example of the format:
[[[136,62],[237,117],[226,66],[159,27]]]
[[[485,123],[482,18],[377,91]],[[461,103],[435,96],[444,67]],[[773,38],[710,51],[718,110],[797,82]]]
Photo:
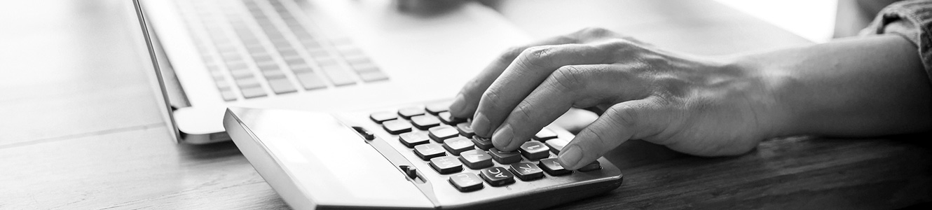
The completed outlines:
[[[623,176],[599,158],[564,169],[573,135],[547,126],[499,151],[452,117],[448,101],[360,112],[229,108],[226,132],[296,209],[540,209],[614,190]]]

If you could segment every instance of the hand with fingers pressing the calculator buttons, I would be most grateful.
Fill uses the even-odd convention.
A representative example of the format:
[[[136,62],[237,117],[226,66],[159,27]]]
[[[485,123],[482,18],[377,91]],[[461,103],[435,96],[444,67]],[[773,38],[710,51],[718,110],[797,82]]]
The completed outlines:
[[[473,130],[514,151],[570,108],[599,108],[559,154],[577,169],[628,139],[702,156],[752,150],[782,124],[779,75],[585,29],[514,47],[464,86],[450,106]]]

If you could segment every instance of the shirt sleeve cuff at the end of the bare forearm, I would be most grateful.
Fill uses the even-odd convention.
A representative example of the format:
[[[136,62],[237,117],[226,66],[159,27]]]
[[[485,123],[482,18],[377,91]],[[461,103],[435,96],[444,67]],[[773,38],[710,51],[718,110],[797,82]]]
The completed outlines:
[[[911,0],[884,7],[860,35],[897,34],[919,49],[925,72],[932,72],[932,1]],[[932,73],[929,79],[932,80]]]

